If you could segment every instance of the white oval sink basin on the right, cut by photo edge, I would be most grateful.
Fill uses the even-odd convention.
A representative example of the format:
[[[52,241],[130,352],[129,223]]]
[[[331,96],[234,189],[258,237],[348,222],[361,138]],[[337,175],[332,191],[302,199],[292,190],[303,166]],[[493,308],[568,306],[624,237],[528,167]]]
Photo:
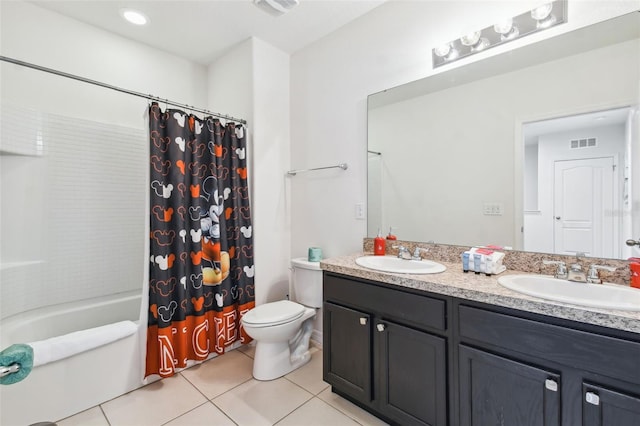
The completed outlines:
[[[586,284],[545,275],[505,275],[498,283],[529,296],[594,308],[640,311],[640,290],[616,284]]]

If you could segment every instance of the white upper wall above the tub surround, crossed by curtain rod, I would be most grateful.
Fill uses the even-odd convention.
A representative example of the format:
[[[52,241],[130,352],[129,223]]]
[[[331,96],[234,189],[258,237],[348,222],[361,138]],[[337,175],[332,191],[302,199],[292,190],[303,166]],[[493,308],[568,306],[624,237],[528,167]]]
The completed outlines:
[[[141,93],[205,105],[206,70],[26,2],[3,1],[3,56],[77,74]],[[147,101],[2,63],[2,99],[44,111],[146,127]]]

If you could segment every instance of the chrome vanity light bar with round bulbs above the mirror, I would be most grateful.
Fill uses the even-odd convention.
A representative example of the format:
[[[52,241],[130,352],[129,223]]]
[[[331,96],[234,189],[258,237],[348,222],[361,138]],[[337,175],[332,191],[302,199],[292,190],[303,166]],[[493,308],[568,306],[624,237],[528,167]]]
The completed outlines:
[[[433,68],[450,64],[494,46],[508,43],[567,22],[567,0],[546,3],[535,9],[465,34],[431,50]]]

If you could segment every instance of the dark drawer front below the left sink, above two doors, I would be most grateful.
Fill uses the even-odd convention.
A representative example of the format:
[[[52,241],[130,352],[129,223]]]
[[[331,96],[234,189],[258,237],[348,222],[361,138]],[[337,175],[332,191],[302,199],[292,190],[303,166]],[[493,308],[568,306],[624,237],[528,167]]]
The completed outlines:
[[[324,275],[324,298],[422,329],[446,330],[446,302],[335,275]],[[364,309],[364,308],[361,308]]]

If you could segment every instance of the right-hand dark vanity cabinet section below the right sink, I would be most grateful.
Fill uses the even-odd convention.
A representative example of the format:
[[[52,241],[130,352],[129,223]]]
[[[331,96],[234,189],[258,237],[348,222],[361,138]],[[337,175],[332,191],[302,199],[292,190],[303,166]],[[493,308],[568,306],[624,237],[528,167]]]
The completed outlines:
[[[461,426],[640,426],[637,338],[486,305],[456,304]],[[510,420],[501,423],[503,413]]]

